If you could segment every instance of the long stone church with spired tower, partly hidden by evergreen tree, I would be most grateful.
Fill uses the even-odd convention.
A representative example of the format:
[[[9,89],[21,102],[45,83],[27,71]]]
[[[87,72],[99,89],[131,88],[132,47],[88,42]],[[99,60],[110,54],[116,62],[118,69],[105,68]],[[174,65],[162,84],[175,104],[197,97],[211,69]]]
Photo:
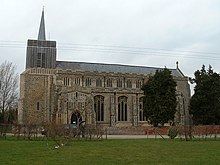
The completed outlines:
[[[46,40],[44,11],[37,40],[27,41],[26,69],[20,75],[21,124],[98,124],[104,127],[149,125],[141,86],[161,68],[56,60],[56,41]],[[190,88],[178,68],[175,121],[188,119]]]

